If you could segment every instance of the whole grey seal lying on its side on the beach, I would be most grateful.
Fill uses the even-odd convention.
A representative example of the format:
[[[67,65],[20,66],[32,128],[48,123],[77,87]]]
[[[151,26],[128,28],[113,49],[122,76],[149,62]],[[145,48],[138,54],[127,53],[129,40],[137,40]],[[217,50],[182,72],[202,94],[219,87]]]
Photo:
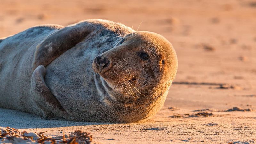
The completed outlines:
[[[0,106],[72,121],[133,123],[156,114],[178,60],[163,36],[91,19],[1,40]]]

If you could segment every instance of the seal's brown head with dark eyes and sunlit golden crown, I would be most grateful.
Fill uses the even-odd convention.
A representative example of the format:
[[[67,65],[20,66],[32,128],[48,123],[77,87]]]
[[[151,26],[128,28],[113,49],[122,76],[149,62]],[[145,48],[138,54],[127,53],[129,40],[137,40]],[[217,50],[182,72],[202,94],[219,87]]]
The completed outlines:
[[[142,92],[147,88],[171,83],[177,66],[172,44],[163,36],[147,31],[126,35],[114,48],[97,56],[92,64],[94,72],[124,96],[136,92],[146,95]]]

